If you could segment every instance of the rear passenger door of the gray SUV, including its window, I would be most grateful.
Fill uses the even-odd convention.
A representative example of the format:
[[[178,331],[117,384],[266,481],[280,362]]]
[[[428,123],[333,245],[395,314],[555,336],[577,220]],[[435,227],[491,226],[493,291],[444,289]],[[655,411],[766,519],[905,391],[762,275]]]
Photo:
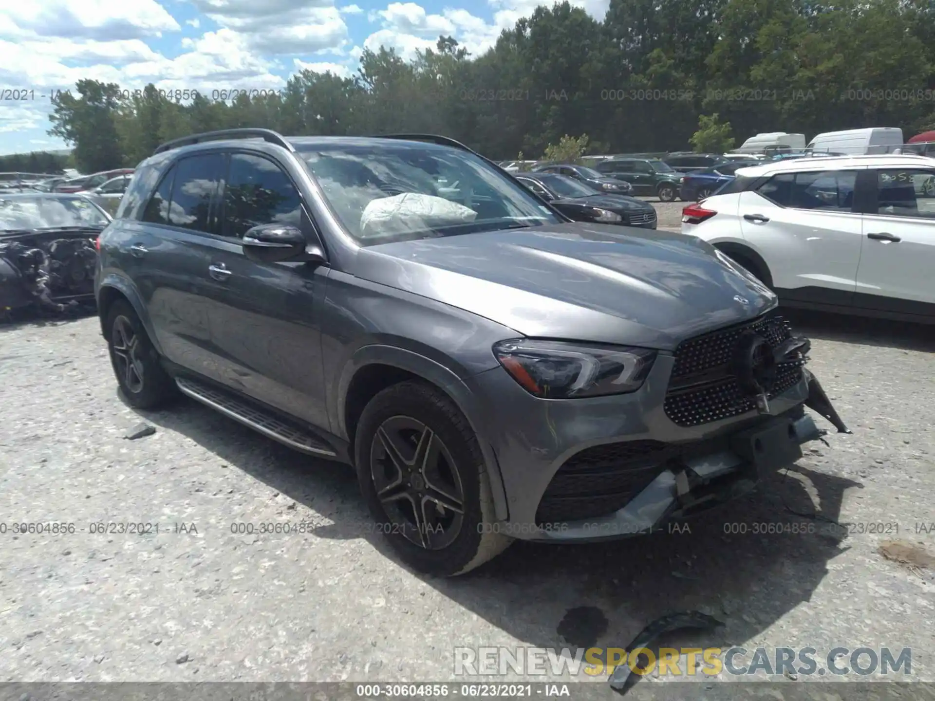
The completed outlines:
[[[215,219],[223,154],[181,158],[165,172],[143,207],[141,222],[127,225],[129,267],[165,357],[193,372],[217,379],[209,350],[205,303],[208,240]]]

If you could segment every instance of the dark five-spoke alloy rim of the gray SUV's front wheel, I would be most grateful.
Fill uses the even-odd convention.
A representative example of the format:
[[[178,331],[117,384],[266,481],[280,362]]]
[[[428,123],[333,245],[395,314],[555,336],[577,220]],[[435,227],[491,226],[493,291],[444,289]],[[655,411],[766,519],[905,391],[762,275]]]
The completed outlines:
[[[394,530],[427,550],[451,545],[464,524],[464,488],[444,442],[423,422],[382,422],[370,448],[370,476]]]

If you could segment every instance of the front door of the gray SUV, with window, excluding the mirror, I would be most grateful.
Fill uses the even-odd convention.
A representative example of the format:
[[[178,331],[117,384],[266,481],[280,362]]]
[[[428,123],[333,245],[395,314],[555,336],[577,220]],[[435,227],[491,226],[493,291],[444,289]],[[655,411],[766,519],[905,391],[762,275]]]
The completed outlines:
[[[231,389],[329,430],[324,403],[319,306],[328,268],[259,263],[241,247],[253,226],[299,227],[320,243],[294,179],[265,155],[231,151],[209,241],[206,276],[211,352]]]

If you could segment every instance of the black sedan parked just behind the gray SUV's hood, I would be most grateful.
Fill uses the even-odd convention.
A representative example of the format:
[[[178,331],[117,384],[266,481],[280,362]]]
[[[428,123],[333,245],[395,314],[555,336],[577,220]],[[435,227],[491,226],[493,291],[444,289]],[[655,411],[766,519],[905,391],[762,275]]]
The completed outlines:
[[[595,193],[577,180],[556,173],[523,173],[516,179],[575,222],[656,227],[655,208],[635,197]]]

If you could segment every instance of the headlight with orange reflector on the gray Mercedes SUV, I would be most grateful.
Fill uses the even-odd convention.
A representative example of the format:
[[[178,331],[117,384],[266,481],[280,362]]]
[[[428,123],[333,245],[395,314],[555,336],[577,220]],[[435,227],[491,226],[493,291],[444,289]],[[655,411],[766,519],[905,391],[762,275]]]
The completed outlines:
[[[529,338],[500,341],[494,355],[526,392],[543,399],[635,392],[655,360],[654,350]]]

